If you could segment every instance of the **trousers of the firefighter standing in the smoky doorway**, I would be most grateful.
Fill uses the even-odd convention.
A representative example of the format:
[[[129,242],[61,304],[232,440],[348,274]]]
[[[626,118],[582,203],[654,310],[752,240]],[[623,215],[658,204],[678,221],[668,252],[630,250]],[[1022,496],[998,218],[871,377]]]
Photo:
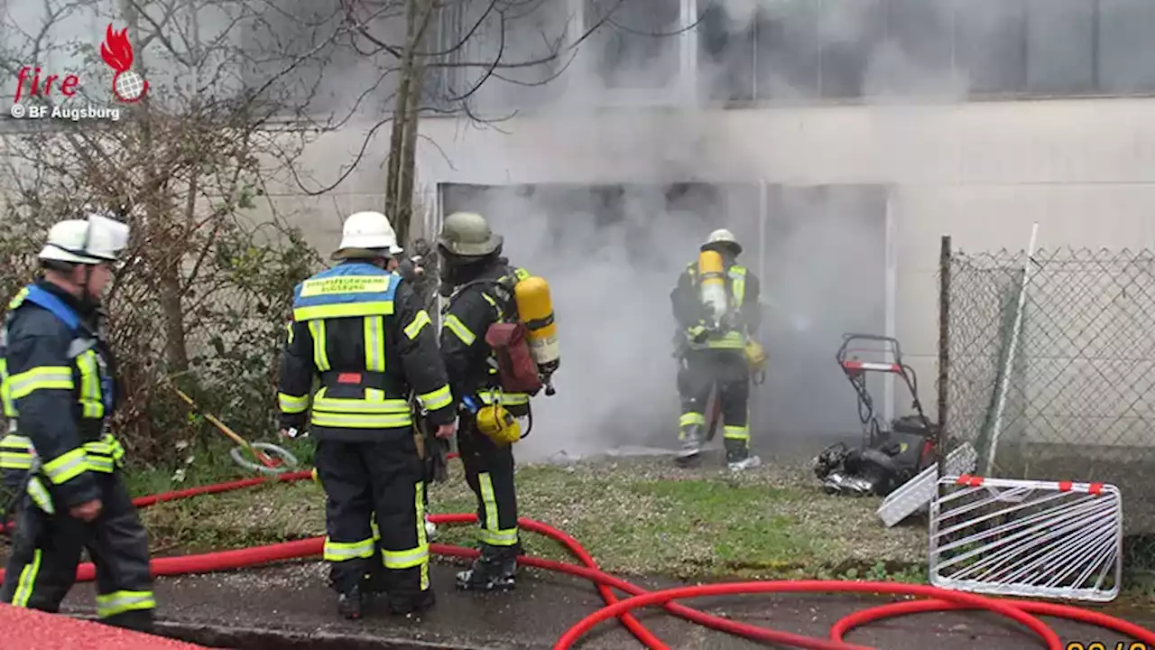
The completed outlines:
[[[706,408],[715,386],[726,460],[744,460],[750,456],[750,368],[742,350],[690,350],[683,357],[678,370],[678,438],[687,445],[706,442],[711,416]]]

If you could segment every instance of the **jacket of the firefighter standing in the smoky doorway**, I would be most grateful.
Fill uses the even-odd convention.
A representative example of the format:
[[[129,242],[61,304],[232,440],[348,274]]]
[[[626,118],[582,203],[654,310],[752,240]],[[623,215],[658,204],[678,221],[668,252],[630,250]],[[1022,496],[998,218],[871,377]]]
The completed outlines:
[[[708,331],[711,316],[700,295],[696,261],[686,266],[686,271],[678,278],[678,286],[670,293],[673,317],[681,330],[683,341],[690,349],[740,350],[746,338],[755,334],[762,323],[761,306],[758,304],[758,276],[745,266],[730,260],[726,260],[725,274],[731,313],[722,331]]]

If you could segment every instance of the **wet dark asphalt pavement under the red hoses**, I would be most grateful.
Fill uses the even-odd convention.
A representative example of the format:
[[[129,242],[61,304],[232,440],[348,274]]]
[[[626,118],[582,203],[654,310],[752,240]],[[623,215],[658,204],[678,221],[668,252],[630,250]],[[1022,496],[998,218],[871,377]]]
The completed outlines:
[[[319,562],[286,563],[228,574],[161,578],[156,591],[162,629],[185,641],[245,650],[372,650],[552,648],[575,622],[597,610],[601,597],[586,582],[523,569],[512,592],[476,594],[453,588],[457,567],[435,562],[432,579],[438,605],[419,618],[386,613],[371,603],[360,621],[336,615],[333,593]],[[639,581],[647,589],[671,582]],[[77,585],[65,604],[73,614],[91,614],[92,586]],[[750,596],[687,601],[735,620],[797,634],[825,637],[839,618],[875,604],[874,598],[847,596]],[[639,616],[660,638],[678,650],[765,648],[647,610]],[[1126,640],[1117,634],[1052,621],[1064,641],[1106,648]],[[1140,621],[1135,621],[1140,622]],[[919,614],[855,631],[848,641],[887,650],[1024,650],[1043,645],[1016,623],[982,613]],[[642,648],[617,621],[598,626],[579,645],[584,650]],[[1130,648],[1126,643],[1122,648]]]

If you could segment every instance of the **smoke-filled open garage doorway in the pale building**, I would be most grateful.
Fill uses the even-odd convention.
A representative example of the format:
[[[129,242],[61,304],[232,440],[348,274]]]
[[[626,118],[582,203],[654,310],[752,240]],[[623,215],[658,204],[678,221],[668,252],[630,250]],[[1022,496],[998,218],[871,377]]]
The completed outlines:
[[[770,362],[751,399],[755,449],[800,459],[858,438],[834,354],[843,332],[887,332],[885,186],[454,183],[438,197],[442,217],[486,215],[511,261],[552,287],[558,394],[535,400],[521,457],[677,448],[670,290],[715,228],[737,235],[739,263],[762,283]],[[884,414],[886,391],[872,379]]]

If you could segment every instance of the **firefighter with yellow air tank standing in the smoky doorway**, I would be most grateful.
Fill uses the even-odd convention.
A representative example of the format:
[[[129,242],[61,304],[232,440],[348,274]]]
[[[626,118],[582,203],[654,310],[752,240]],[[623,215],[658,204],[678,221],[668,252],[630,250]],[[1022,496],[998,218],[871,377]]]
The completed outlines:
[[[750,384],[765,354],[753,339],[761,324],[758,278],[737,263],[742,244],[725,229],[710,232],[670,294],[677,337],[681,418],[678,463],[695,464],[707,438],[706,402],[715,385],[731,470],[757,467],[750,453]]]

